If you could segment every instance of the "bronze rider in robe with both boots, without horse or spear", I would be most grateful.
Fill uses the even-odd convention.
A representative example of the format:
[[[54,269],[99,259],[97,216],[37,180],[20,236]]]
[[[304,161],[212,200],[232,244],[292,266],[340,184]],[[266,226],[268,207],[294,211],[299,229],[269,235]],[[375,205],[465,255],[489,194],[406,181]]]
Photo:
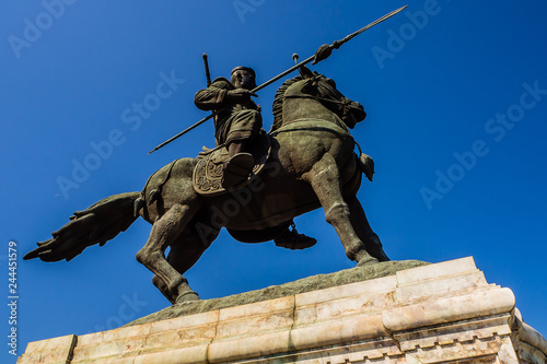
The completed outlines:
[[[249,67],[236,67],[231,79],[217,78],[209,87],[200,90],[194,97],[194,103],[201,110],[214,113],[214,138],[217,145],[225,144],[230,160],[224,166],[223,187],[235,187],[246,180],[253,171],[255,160],[251,144],[260,132],[263,117],[260,108],[251,96],[251,90],[256,87],[255,71]],[[277,246],[289,249],[304,249],[317,240],[304,234],[299,234],[291,222],[292,230],[287,227],[274,242]]]

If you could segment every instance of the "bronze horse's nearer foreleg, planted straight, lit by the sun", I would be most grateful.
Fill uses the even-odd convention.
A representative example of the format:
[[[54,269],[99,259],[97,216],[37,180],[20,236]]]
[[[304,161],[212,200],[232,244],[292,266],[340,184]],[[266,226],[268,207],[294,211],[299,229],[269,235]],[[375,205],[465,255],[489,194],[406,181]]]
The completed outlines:
[[[340,186],[340,173],[334,156],[326,153],[302,176],[311,185],[323,209],[325,220],[331,224],[346,250],[346,256],[358,266],[377,263],[379,260],[366,253],[350,220],[351,211],[344,200]]]

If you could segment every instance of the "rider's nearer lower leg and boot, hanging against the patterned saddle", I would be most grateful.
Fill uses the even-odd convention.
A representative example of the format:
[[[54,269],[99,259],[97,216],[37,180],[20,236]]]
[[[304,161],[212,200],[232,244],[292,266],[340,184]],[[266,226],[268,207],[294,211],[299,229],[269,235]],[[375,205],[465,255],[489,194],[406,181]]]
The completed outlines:
[[[224,165],[222,187],[226,189],[235,188],[247,180],[248,175],[255,166],[255,158],[247,150],[245,140],[237,140],[230,143],[228,146],[230,160]]]

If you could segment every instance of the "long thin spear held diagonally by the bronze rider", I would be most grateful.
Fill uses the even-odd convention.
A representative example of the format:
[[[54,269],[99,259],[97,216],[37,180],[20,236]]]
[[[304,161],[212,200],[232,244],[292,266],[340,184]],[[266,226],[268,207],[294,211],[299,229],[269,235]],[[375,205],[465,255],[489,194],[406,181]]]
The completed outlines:
[[[342,39],[340,40],[335,40],[331,45],[328,45],[328,44],[324,44],[323,46],[321,46],[316,51],[315,51],[315,55],[313,56],[310,56],[309,58],[304,59],[302,62],[300,63],[296,63],[294,64],[293,67],[291,67],[290,69],[279,73],[278,75],[276,75],[275,78],[266,81],[265,83],[260,84],[259,86],[256,86],[255,89],[251,90],[251,93],[256,93],[260,90],[263,90],[264,87],[266,86],[269,86],[270,84],[272,84],[274,82],[276,82],[277,80],[286,77],[287,74],[293,72],[294,70],[298,70],[299,68],[301,68],[302,66],[305,66],[307,63],[310,63],[311,61],[314,61],[313,64],[316,64],[318,62],[321,62],[322,60],[325,60],[327,59],[330,54],[333,52],[333,49],[338,49],[340,48],[340,46],[347,42],[349,42],[350,39],[352,39],[353,37],[358,36],[359,34],[363,33],[364,31],[366,30],[370,30],[371,27],[373,27],[374,25],[376,24],[380,24],[382,23],[383,21],[392,17],[393,15],[401,12],[403,10],[405,10],[408,5],[405,5],[405,7],[401,7],[399,9],[396,9],[387,14],[385,14],[384,16],[382,17],[379,17],[376,19],[374,22],[363,26],[362,28],[360,28],[359,31],[357,32],[353,32],[349,35],[347,35],[346,37],[344,37]],[[148,154],[150,153],[153,153],[155,152],[156,150],[159,150],[160,148],[164,146],[164,145],[167,145],[168,143],[171,143],[172,141],[174,141],[175,139],[178,139],[181,138],[182,136],[184,136],[185,133],[187,133],[188,131],[190,130],[194,130],[195,128],[199,127],[201,124],[206,122],[207,120],[211,119],[213,117],[213,114],[202,118],[201,120],[199,120],[198,122],[194,124],[193,126],[184,129],[183,131],[181,131],[179,133],[177,133],[176,136],[167,139],[166,141],[164,141],[163,143],[161,143],[160,145],[158,145],[156,148],[154,148],[153,150],[151,150],[150,152],[148,152]]]

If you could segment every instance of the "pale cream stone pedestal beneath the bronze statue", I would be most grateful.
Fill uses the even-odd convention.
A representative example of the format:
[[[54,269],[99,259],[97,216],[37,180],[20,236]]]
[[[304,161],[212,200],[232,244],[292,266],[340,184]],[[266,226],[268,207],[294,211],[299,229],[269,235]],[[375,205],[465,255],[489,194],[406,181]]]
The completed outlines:
[[[353,283],[310,292],[289,283],[258,296],[300,293],[232,307],[209,300],[116,330],[31,342],[18,364],[547,363],[547,341],[522,321],[511,290],[488,284],[473,258],[368,279],[388,274],[379,267],[318,275],[304,291],[342,275]]]

